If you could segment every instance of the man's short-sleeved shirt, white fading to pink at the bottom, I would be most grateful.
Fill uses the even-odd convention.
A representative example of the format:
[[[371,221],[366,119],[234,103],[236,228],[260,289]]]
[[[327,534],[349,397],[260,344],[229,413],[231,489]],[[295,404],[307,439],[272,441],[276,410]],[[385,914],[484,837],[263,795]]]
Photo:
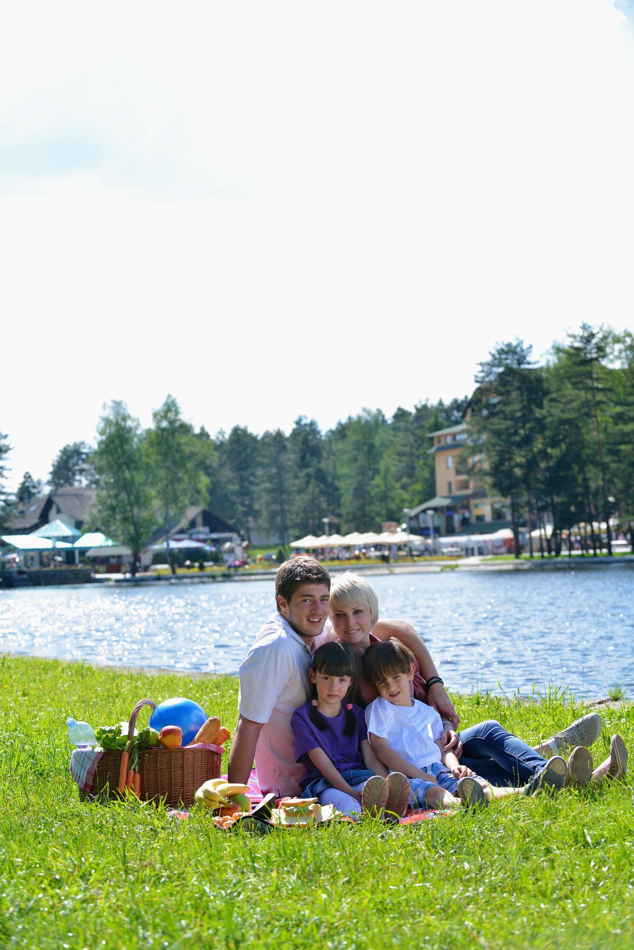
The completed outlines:
[[[322,637],[315,637],[317,649]],[[256,746],[259,788],[278,797],[298,795],[304,768],[295,761],[291,716],[308,699],[312,651],[281,614],[259,630],[240,664],[240,715],[264,726]]]

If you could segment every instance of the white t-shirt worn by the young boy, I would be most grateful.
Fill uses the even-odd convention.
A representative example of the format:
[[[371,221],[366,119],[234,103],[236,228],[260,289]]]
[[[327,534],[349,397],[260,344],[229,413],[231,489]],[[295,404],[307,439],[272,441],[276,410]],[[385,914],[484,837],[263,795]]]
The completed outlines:
[[[394,706],[379,696],[367,707],[365,721],[369,733],[387,739],[394,752],[424,771],[432,762],[441,761],[435,740],[440,738],[443,724],[432,706],[418,699],[412,703],[412,706]]]

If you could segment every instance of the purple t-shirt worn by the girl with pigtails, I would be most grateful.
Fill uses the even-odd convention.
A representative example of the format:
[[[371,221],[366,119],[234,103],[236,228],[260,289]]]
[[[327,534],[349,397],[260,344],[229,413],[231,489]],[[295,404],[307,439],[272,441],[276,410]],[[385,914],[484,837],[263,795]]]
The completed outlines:
[[[368,738],[368,730],[363,710],[358,706],[353,706],[356,728],[352,735],[344,735],[343,728],[346,724],[344,703],[341,704],[341,712],[338,715],[332,718],[323,716],[323,721],[327,726],[324,731],[317,729],[317,726],[311,722],[309,715],[311,705],[311,703],[304,703],[291,716],[295,760],[306,769],[306,774],[299,783],[300,787],[306,788],[314,779],[321,777],[321,772],[315,768],[308,756],[308,752],[312,749],[323,749],[339,772],[346,769],[365,769],[361,743]]]

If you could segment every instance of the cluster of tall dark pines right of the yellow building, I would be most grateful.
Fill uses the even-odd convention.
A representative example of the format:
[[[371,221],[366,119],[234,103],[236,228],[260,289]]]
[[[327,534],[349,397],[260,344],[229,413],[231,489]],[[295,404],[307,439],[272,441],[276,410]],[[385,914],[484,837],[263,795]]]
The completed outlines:
[[[583,324],[541,367],[522,340],[502,344],[475,382],[471,433],[486,444],[487,485],[509,499],[516,555],[520,523],[547,519],[546,544],[556,555],[563,533],[580,524],[596,554],[600,523],[611,554],[613,518],[634,542],[632,333]],[[464,457],[469,464],[472,450]]]

